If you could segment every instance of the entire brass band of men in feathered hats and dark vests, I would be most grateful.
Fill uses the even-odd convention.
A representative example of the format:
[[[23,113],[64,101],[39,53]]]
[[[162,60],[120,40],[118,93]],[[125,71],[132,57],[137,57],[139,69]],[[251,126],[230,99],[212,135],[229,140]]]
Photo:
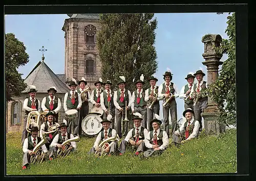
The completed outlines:
[[[143,152],[144,157],[161,154],[169,145],[169,137],[175,144],[184,143],[195,138],[202,130],[201,113],[207,106],[207,83],[203,81],[205,74],[198,70],[189,73],[187,80],[179,92],[177,86],[171,82],[172,73],[163,74],[164,83],[157,86],[158,79],[150,77],[151,87],[143,89],[144,76],[135,82],[137,89],[131,94],[125,89],[125,77],[119,76],[119,89],[111,90],[112,83],[100,78],[95,82],[95,89],[90,94],[90,87],[84,77],[76,83],[72,78],[70,91],[65,94],[63,108],[65,119],[58,123],[58,112],[61,101],[55,95],[57,90],[50,87],[49,96],[40,101],[35,98],[36,87],[30,85],[29,97],[24,100],[25,109],[23,143],[23,169],[30,163],[39,163],[48,158],[66,157],[70,151],[76,149],[76,142],[84,129],[85,120],[94,115],[100,120],[100,130],[96,131],[96,141],[89,151],[97,157],[111,154],[124,154],[127,146],[136,150],[138,156]],[[197,83],[194,83],[194,80]],[[79,88],[77,88],[79,86]],[[102,89],[104,86],[104,90]],[[77,90],[76,90],[77,88]],[[183,116],[186,118],[179,127],[177,123],[176,98],[184,99]],[[160,104],[163,100],[163,130],[159,119]],[[89,113],[89,102],[93,108]],[[128,113],[127,113],[128,112]],[[169,133],[169,113],[172,118],[171,134]],[[115,120],[116,117],[116,120]],[[131,117],[131,118],[130,118]],[[93,121],[93,120],[91,120]],[[92,126],[94,122],[91,123]],[[96,122],[95,122],[96,125]],[[39,132],[39,136],[38,136]],[[118,141],[124,137],[118,146]]]

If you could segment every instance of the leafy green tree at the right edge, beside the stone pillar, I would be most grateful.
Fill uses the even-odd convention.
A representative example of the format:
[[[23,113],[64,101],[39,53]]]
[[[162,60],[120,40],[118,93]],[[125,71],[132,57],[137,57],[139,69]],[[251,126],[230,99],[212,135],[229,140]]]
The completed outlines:
[[[220,122],[236,124],[236,19],[235,13],[227,17],[228,39],[223,39],[221,46],[216,51],[227,54],[228,59],[224,61],[220,75],[215,83],[209,86],[209,94],[218,104],[221,111]]]

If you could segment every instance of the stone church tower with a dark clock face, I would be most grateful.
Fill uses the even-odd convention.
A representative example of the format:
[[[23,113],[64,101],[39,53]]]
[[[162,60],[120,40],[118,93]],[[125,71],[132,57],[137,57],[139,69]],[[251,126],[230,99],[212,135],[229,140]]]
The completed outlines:
[[[101,76],[97,32],[100,30],[98,14],[68,14],[62,30],[65,32],[65,74],[78,81],[84,77],[88,86]]]

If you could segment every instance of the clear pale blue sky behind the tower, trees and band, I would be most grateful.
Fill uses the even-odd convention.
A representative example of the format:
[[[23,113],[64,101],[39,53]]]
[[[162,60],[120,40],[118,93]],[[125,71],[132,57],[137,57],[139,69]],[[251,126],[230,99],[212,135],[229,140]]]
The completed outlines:
[[[163,83],[162,74],[167,67],[172,70],[172,82],[179,91],[187,83],[184,78],[188,72],[202,68],[206,73],[206,66],[202,64],[204,44],[201,39],[206,34],[219,34],[227,39],[227,16],[228,13],[156,13],[157,85]],[[5,33],[15,34],[27,47],[29,63],[18,68],[24,79],[41,60],[39,49],[43,45],[47,49],[44,53],[47,65],[55,74],[64,73],[65,32],[61,28],[66,18],[69,18],[67,14],[5,16]],[[221,61],[226,59],[227,56],[223,55]],[[207,81],[207,76],[204,80]],[[179,119],[184,111],[184,101],[180,98],[176,101]]]

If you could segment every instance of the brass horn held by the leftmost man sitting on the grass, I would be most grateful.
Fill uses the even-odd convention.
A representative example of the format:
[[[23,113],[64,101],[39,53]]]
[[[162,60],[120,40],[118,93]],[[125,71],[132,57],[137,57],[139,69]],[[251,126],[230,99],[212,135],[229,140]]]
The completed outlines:
[[[30,157],[30,163],[41,163],[46,158],[46,153],[41,149],[41,146],[47,143],[46,137],[43,137],[43,139],[34,147],[32,150],[35,154],[32,154]]]

